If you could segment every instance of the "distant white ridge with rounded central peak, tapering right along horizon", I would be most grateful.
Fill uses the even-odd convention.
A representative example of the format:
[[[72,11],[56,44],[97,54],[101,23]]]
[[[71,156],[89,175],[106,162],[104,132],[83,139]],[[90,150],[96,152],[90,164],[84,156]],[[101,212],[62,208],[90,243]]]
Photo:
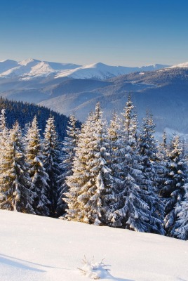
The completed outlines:
[[[104,63],[94,63],[91,65],[85,65],[83,67],[76,68],[75,70],[68,70],[61,72],[55,78],[71,77],[74,79],[107,79],[116,77],[130,72],[137,71],[151,71],[159,70],[166,65],[148,65],[144,67],[123,67],[123,66],[110,66]]]

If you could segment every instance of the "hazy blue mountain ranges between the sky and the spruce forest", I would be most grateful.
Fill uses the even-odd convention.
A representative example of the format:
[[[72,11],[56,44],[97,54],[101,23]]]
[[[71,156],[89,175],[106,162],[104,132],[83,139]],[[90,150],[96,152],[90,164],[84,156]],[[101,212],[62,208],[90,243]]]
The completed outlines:
[[[188,133],[188,63],[116,67],[96,63],[74,65],[40,60],[0,62],[0,94],[39,103],[83,121],[100,101],[105,117],[122,112],[131,92],[141,121],[151,110],[156,131]]]

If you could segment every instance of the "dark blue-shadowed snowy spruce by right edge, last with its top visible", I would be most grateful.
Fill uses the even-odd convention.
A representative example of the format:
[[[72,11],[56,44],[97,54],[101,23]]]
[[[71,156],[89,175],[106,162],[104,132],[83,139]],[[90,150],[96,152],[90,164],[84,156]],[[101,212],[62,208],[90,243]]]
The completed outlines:
[[[164,226],[168,236],[175,236],[177,212],[184,197],[184,184],[187,183],[187,164],[180,137],[174,136],[170,142],[166,162],[165,182],[161,185],[160,195],[165,204]]]

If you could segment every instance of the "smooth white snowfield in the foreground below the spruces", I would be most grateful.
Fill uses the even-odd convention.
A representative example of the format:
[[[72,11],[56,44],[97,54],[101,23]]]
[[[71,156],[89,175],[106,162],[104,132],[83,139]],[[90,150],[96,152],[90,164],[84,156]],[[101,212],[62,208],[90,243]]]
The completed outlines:
[[[188,241],[4,210],[0,225],[2,281],[188,280]]]

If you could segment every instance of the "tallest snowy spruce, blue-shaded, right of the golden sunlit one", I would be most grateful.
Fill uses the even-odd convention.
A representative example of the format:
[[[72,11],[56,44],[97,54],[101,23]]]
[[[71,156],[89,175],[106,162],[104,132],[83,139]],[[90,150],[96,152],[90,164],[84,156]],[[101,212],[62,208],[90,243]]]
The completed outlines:
[[[143,185],[145,175],[142,172],[142,157],[137,148],[137,118],[133,110],[134,106],[129,96],[119,136],[120,153],[116,171],[123,184],[118,188],[121,199],[116,202],[114,219],[121,223],[122,228],[149,233],[152,228],[149,192]],[[153,230],[156,233],[157,231]]]

